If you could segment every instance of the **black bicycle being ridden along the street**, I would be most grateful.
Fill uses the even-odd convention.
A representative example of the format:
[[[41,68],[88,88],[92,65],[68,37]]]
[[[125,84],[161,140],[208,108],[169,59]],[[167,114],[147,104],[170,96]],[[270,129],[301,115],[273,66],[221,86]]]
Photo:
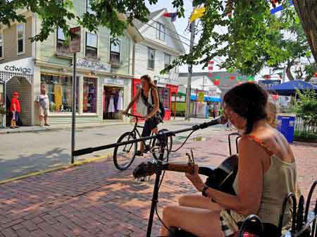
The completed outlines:
[[[125,116],[132,116],[135,118],[135,126],[130,132],[123,133],[123,135],[120,136],[118,139],[118,143],[135,140],[137,136],[141,138],[141,133],[139,133],[139,130],[137,128],[143,128],[143,126],[139,126],[139,120],[144,119],[142,116],[137,116],[134,114],[125,114]],[[164,131],[166,129],[162,129]],[[154,135],[153,132],[151,132],[151,136]],[[153,138],[149,140],[149,145],[145,144],[144,142],[144,153],[151,152],[154,159],[159,159],[159,142],[156,142],[156,138]],[[168,157],[168,152],[172,150],[173,147],[173,138],[170,136],[167,138],[166,142],[167,149],[164,151],[163,157]],[[126,170],[129,168],[129,166],[132,164],[132,162],[135,160],[135,153],[137,152],[137,142],[123,145],[120,147],[115,147],[113,152],[113,164],[116,166],[119,170]]]

